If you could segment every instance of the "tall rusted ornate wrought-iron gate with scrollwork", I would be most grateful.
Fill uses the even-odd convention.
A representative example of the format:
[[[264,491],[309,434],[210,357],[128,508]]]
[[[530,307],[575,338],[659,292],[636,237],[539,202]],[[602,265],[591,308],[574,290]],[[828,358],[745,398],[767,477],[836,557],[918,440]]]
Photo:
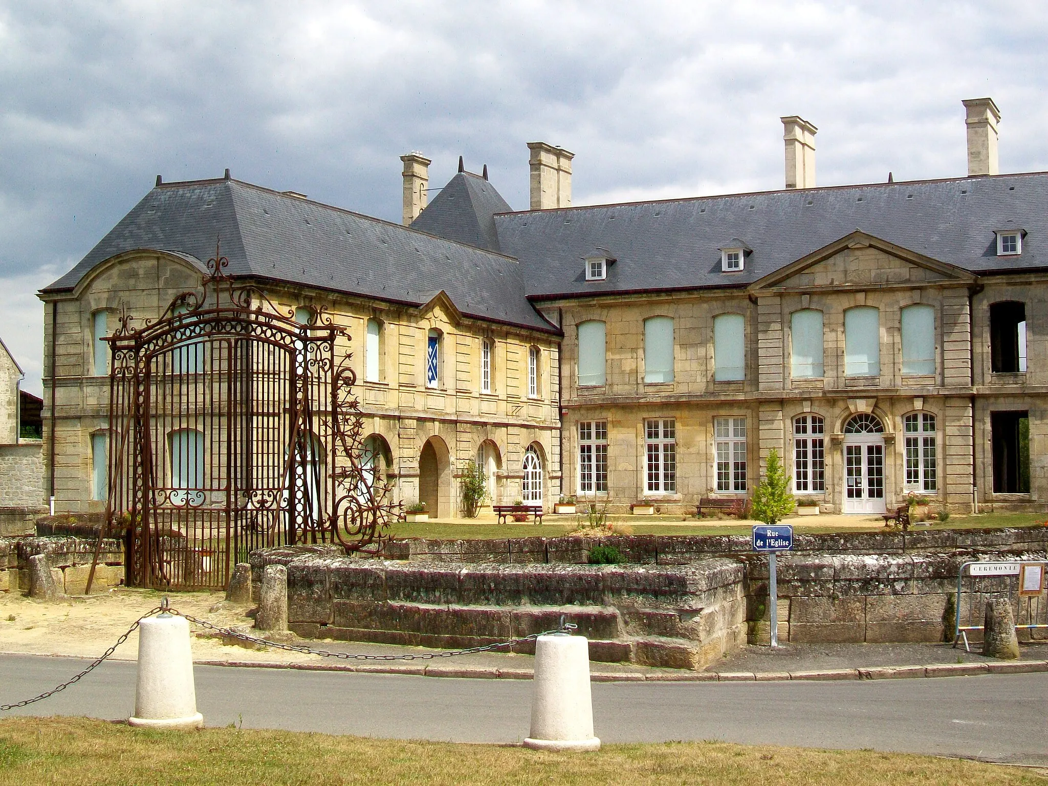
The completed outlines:
[[[336,361],[345,330],[235,286],[226,264],[216,252],[201,291],[138,328],[123,315],[107,340],[99,545],[107,530],[123,534],[129,585],[224,587],[233,565],[263,547],[376,547],[396,507],[362,451],[349,352]]]

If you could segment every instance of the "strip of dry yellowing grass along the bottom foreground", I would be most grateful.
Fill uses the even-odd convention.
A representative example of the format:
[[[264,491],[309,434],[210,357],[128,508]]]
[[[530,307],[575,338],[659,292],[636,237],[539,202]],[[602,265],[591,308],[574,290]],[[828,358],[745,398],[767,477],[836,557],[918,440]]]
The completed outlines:
[[[234,728],[161,733],[73,718],[0,723],[0,784],[1045,784],[1045,770],[870,750],[721,742],[597,754]]]

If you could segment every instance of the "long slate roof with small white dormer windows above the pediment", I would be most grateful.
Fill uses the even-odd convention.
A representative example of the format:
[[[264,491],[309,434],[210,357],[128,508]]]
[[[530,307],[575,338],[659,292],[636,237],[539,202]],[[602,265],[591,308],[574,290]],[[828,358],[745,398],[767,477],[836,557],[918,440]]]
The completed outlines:
[[[1027,270],[1048,267],[1048,173],[528,211],[495,225],[533,300],[745,286],[856,228],[976,274]],[[1003,227],[1027,233],[1022,255],[997,256]],[[721,271],[725,238],[754,249],[744,271]],[[594,247],[617,261],[587,282]]]

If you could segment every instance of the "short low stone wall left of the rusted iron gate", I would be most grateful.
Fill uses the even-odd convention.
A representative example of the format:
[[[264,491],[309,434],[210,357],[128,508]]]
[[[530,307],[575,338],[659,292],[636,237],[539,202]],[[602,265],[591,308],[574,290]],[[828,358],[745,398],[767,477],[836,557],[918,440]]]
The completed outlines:
[[[29,558],[47,554],[61,591],[82,595],[94,556],[94,539],[0,538],[0,591],[29,591]],[[99,554],[92,591],[124,583],[124,549],[119,541],[106,539]]]

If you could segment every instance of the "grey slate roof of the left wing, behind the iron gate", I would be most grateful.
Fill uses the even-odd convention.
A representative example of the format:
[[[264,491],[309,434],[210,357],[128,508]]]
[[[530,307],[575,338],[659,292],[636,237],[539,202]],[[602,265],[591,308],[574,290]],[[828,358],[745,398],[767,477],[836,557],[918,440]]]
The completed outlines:
[[[511,259],[239,180],[157,185],[43,291],[69,290],[99,262],[133,249],[205,260],[218,238],[233,276],[415,306],[442,289],[463,314],[558,332],[524,297]]]

